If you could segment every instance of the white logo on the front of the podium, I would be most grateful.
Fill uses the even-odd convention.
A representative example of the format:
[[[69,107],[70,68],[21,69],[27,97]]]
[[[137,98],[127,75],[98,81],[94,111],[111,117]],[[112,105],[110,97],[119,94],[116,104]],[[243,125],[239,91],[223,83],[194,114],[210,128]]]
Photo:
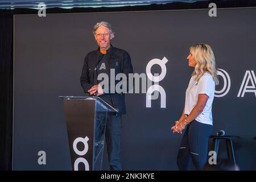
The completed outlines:
[[[77,155],[85,155],[86,152],[88,151],[88,140],[89,138],[88,137],[85,137],[85,138],[82,138],[82,137],[79,137],[79,138],[76,138],[73,142],[73,150],[76,152]],[[77,143],[79,142],[82,142],[84,143],[84,150],[80,151],[78,150],[77,148]],[[89,163],[87,162],[87,160],[85,158],[77,158],[76,161],[75,161],[75,164],[74,164],[74,170],[75,171],[78,171],[79,170],[79,163],[84,163],[84,166],[85,166],[85,171],[89,171]]]

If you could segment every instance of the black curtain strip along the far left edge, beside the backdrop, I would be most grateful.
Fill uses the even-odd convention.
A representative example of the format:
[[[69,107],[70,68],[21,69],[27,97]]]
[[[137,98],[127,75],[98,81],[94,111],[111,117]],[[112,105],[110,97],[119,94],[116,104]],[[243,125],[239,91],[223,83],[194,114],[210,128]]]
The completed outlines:
[[[0,11],[0,170],[11,169],[13,129],[13,13]]]

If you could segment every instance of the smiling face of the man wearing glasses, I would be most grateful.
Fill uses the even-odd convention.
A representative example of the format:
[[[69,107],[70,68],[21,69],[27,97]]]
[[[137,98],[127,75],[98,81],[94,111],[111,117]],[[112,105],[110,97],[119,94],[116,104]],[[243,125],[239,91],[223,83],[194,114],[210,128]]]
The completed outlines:
[[[110,34],[109,28],[100,26],[97,28],[94,37],[101,49],[108,49],[110,47],[110,40],[114,38],[114,34]]]

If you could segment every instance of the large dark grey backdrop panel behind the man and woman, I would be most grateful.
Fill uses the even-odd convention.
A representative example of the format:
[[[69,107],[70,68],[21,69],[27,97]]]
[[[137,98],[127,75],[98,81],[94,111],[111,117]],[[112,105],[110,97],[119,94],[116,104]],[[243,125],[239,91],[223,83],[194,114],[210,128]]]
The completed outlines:
[[[254,8],[218,9],[214,18],[208,10],[15,15],[13,169],[71,168],[58,96],[83,94],[82,63],[97,47],[91,30],[100,20],[113,25],[113,46],[130,53],[134,72],[145,73],[151,59],[168,59],[166,77],[159,83],[166,92],[166,108],[160,108],[160,99],[146,108],[146,94],[126,97],[123,169],[177,169],[181,136],[172,134],[170,127],[180,117],[192,72],[188,48],[201,42],[212,46],[217,68],[231,79],[229,92],[214,99],[214,133],[224,129],[239,135],[241,139],[234,141],[237,163],[241,169],[256,169],[256,96],[251,92],[237,97],[245,72],[256,71],[255,15]],[[160,73],[160,68],[154,66],[152,72]],[[222,89],[224,80],[220,81],[216,90]],[[47,152],[46,166],[37,163],[40,150]],[[225,150],[221,145],[220,156],[225,157]]]

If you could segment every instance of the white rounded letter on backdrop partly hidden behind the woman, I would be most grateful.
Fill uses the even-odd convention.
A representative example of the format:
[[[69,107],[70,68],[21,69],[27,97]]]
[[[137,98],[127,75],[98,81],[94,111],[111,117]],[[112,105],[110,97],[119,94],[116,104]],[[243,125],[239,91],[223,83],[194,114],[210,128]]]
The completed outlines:
[[[215,90],[214,97],[224,97],[229,92],[231,81],[229,74],[224,69],[218,69],[218,76],[221,76],[224,80],[223,88],[221,90]]]

